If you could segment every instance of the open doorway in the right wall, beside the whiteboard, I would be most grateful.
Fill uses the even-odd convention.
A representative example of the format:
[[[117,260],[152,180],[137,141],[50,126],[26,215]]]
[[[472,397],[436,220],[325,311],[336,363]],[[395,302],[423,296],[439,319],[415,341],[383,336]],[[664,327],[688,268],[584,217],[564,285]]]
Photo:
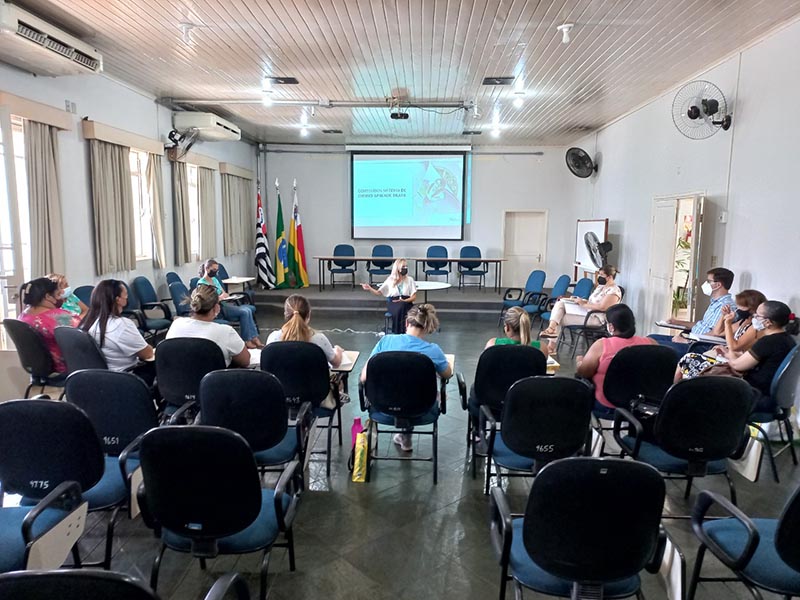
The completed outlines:
[[[650,226],[647,322],[694,321],[703,205],[701,195],[656,198]]]

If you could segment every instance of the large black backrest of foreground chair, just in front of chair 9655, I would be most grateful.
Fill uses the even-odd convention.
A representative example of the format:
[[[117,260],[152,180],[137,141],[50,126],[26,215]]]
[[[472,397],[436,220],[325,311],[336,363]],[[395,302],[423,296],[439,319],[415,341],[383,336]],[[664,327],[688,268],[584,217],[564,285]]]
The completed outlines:
[[[568,581],[631,577],[655,554],[664,495],[661,475],[643,463],[583,457],[550,463],[528,497],[525,549],[539,567]]]

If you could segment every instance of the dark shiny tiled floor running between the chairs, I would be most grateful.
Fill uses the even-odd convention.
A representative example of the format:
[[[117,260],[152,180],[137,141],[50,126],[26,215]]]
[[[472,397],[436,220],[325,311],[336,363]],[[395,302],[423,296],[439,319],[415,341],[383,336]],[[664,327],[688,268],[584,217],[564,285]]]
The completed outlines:
[[[374,322],[373,322],[374,321]],[[375,331],[381,323],[371,316],[356,321],[315,319],[334,343],[362,352],[356,365],[361,367],[377,342]],[[341,332],[346,328],[357,332]],[[268,333],[268,332],[265,332]],[[497,335],[492,322],[442,323],[442,331],[430,337],[446,353],[456,355],[456,370],[471,382],[485,341]],[[562,374],[571,375],[568,357],[562,358]],[[350,381],[353,402],[345,407],[345,439],[358,409],[357,373]],[[330,598],[349,600],[383,599],[486,599],[495,598],[499,589],[499,568],[489,544],[488,499],[482,492],[481,474],[469,475],[465,445],[466,417],[461,410],[455,380],[448,387],[448,412],[440,420],[439,484],[432,485],[430,463],[381,462],[370,483],[352,483],[346,467],[349,448],[335,447],[332,473],[325,477],[322,457],[312,459],[308,491],[303,495],[295,523],[297,571],[291,573],[285,550],[273,552],[270,564],[269,598],[297,600]],[[388,447],[387,447],[388,443]],[[415,438],[415,452],[430,449],[429,438]],[[381,436],[381,450],[397,453]],[[740,506],[756,516],[777,516],[795,489],[800,469],[793,468],[788,455],[778,459],[782,483],[775,484],[765,470],[758,483],[736,478]],[[697,487],[727,495],[723,481],[700,481]],[[209,482],[213,485],[213,482]],[[506,483],[504,482],[504,485]],[[524,509],[530,483],[514,480],[508,486],[512,509]],[[685,513],[694,501],[682,499],[682,488],[668,484],[668,510]],[[590,498],[586,502],[591,502]],[[688,523],[666,521],[666,527],[683,550],[689,568],[694,564],[697,543]],[[121,519],[115,541],[114,570],[149,579],[157,540],[140,521]],[[103,531],[94,527],[82,542],[84,552],[99,553]],[[250,582],[253,597],[258,591],[260,555],[220,557],[200,570],[196,560],[168,552],[159,583],[162,598],[189,600],[202,598],[214,579],[230,571],[243,573]],[[715,564],[713,559],[707,564]],[[717,569],[720,573],[721,569]],[[648,598],[664,598],[658,580],[645,578]],[[513,594],[509,587],[509,593]],[[513,596],[509,596],[513,597]],[[525,597],[535,597],[526,593]],[[740,585],[701,587],[699,599],[747,598]]]

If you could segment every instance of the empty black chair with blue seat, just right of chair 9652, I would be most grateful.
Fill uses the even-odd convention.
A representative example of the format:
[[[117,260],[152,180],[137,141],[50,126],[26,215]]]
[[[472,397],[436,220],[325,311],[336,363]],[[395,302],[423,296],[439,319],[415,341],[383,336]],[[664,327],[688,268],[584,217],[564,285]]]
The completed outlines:
[[[301,406],[289,427],[286,393],[272,373],[251,369],[213,371],[200,382],[200,424],[241,435],[253,450],[259,470],[303,464],[311,425],[311,405]],[[302,471],[301,471],[302,477]]]

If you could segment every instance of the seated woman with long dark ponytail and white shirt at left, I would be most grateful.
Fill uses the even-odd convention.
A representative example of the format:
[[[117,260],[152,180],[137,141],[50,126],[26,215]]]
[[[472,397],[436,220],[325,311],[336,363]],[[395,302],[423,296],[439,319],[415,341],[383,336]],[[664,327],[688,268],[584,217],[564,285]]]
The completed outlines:
[[[116,279],[105,279],[92,290],[89,312],[80,328],[94,337],[111,371],[132,370],[152,386],[156,378],[153,347],[131,319],[122,315],[128,289]],[[140,360],[149,361],[139,364]]]

